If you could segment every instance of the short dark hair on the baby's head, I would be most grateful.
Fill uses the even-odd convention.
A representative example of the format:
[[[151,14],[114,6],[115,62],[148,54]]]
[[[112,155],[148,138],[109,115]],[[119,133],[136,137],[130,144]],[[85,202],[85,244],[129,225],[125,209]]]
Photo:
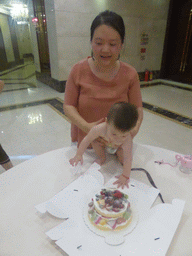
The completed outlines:
[[[115,103],[107,114],[107,123],[121,132],[128,132],[138,120],[137,107],[127,102]]]

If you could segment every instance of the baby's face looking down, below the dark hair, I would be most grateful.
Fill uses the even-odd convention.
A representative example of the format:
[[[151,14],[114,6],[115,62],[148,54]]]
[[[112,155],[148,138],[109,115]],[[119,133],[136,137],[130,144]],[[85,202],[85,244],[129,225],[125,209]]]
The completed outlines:
[[[109,143],[122,144],[129,135],[129,131],[122,132],[115,128],[114,125],[107,123],[107,138],[109,139]]]

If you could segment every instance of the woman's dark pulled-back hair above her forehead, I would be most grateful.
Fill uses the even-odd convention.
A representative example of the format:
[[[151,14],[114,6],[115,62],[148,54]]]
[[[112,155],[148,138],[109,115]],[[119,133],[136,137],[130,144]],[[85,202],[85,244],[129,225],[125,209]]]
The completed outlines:
[[[109,10],[99,13],[99,15],[95,17],[91,25],[91,41],[93,39],[95,29],[101,25],[107,25],[115,29],[121,37],[121,43],[124,43],[125,25],[123,18],[119,14]]]

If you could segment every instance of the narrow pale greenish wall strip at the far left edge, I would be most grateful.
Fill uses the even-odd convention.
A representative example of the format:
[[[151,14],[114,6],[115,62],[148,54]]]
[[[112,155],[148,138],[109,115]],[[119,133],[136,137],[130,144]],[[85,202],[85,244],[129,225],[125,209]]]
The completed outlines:
[[[7,62],[15,61],[13,45],[11,42],[11,34],[8,23],[8,15],[0,13],[0,26],[3,34],[5,52],[7,56]]]

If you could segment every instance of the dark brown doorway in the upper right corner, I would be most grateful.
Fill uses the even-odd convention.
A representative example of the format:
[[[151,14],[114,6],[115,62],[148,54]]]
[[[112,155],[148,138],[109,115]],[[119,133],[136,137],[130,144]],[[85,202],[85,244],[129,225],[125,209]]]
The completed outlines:
[[[170,1],[161,78],[192,84],[192,0]]]

